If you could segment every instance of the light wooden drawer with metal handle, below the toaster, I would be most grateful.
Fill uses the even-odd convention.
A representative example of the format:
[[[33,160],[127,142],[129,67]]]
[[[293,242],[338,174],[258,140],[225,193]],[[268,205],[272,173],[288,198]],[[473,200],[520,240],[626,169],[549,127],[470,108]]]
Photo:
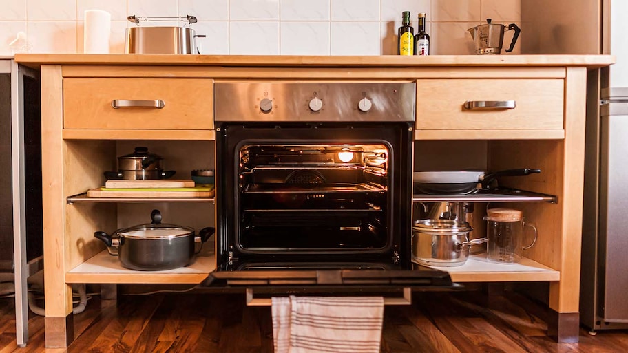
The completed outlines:
[[[112,106],[114,100],[118,108]],[[65,78],[63,127],[213,129],[213,80]]]

